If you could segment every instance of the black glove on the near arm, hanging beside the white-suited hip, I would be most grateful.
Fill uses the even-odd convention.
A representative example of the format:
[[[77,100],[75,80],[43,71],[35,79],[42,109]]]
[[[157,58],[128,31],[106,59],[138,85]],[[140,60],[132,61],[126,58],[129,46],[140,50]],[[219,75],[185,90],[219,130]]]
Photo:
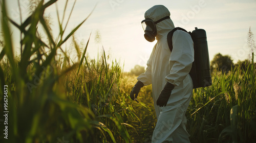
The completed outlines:
[[[157,105],[160,107],[166,106],[173,89],[174,85],[172,83],[166,82],[157,99]]]

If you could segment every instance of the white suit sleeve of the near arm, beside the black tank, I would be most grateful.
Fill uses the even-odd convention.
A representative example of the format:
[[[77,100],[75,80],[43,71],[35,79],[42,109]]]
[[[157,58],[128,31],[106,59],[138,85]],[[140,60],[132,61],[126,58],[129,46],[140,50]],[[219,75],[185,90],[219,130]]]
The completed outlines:
[[[174,32],[172,40],[173,51],[169,58],[170,74],[165,77],[165,80],[179,86],[192,67],[194,43],[191,36],[181,30]]]

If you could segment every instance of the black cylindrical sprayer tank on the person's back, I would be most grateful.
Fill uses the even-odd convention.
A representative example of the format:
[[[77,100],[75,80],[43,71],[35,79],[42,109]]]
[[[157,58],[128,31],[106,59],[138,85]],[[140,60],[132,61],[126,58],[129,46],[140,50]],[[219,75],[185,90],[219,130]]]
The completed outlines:
[[[210,86],[212,83],[206,32],[203,29],[195,28],[191,34],[194,41],[198,87]]]

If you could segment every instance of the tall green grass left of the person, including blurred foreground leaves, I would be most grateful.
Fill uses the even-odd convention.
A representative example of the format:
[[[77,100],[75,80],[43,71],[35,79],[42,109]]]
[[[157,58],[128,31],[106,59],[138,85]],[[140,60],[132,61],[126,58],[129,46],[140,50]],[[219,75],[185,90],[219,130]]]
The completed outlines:
[[[121,75],[118,61],[108,64],[105,53],[100,60],[88,60],[85,54],[90,39],[84,47],[74,44],[79,59],[71,61],[62,49],[63,44],[88,17],[65,34],[68,23],[63,23],[65,15],[62,20],[58,15],[60,32],[54,39],[44,11],[55,2],[40,1],[32,14],[18,24],[8,18],[6,1],[2,1],[4,47],[0,54],[0,100],[3,103],[2,87],[8,85],[9,111],[9,138],[4,141],[131,142],[126,127],[133,127],[124,123],[122,116],[134,113],[118,98]],[[17,58],[10,23],[20,31],[22,38],[22,51]],[[38,26],[45,31],[47,40],[39,36]],[[73,42],[76,43],[74,38]],[[84,49],[83,53],[79,48]],[[1,112],[3,110],[1,106]]]

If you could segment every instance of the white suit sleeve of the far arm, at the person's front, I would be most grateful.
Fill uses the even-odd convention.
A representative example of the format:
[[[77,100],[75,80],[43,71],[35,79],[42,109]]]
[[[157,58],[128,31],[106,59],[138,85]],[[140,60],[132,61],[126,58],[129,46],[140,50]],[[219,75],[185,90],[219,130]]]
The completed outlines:
[[[137,80],[141,81],[144,85],[150,85],[152,84],[152,59],[155,53],[156,45],[153,48],[153,51],[150,55],[150,59],[147,60],[147,67],[146,71],[143,74],[140,74]]]

